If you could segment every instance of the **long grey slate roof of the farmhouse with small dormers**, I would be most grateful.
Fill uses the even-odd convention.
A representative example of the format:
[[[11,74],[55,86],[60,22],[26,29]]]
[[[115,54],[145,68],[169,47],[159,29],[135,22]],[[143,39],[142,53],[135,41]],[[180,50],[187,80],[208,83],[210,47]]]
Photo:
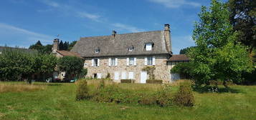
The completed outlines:
[[[113,36],[82,37],[71,51],[82,57],[95,56],[133,56],[148,54],[169,54],[166,50],[164,31],[146,31],[131,34],[116,34]],[[153,43],[152,51],[146,51],[145,44]],[[133,51],[128,48],[133,46]],[[95,49],[100,52],[95,53]]]

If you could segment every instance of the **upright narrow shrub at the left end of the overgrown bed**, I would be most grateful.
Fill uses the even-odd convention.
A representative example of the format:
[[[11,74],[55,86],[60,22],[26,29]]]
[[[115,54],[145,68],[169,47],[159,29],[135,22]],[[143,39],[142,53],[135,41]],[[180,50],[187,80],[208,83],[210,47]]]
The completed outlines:
[[[75,98],[77,101],[82,99],[90,99],[89,89],[85,79],[80,79],[77,81],[77,94]]]

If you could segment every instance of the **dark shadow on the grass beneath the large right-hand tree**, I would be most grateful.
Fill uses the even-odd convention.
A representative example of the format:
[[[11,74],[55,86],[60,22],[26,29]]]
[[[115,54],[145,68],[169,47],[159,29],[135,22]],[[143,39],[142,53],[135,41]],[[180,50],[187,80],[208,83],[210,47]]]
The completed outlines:
[[[240,89],[232,89],[232,88],[216,88],[214,86],[203,86],[203,87],[193,87],[193,91],[197,91],[200,94],[204,94],[204,93],[232,93],[232,94],[245,94],[245,91],[241,91]]]

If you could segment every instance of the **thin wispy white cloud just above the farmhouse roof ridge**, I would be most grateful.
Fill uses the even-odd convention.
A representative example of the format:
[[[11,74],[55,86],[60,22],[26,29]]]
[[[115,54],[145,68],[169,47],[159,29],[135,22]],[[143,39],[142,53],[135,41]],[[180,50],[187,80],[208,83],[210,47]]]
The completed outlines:
[[[135,26],[130,26],[130,25],[127,25],[127,24],[115,23],[115,24],[112,24],[112,25],[115,26],[116,29],[119,29],[120,31],[122,31],[122,30],[131,31],[131,32],[144,31],[143,29],[138,29]]]

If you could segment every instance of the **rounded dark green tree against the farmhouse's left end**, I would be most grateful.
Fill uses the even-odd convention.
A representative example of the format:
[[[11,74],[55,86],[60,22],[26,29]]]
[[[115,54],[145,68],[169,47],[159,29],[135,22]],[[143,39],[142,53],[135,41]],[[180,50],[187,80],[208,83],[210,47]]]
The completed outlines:
[[[63,56],[60,58],[57,66],[60,71],[66,71],[66,75],[79,76],[83,69],[84,61],[76,56]]]

